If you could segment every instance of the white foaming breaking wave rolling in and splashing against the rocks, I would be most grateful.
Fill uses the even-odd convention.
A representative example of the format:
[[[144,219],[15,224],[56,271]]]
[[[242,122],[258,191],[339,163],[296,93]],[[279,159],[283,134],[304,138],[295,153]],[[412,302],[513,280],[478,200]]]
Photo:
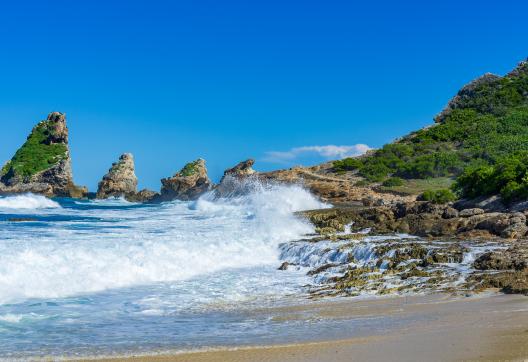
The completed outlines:
[[[58,209],[81,221],[0,229],[0,303],[277,265],[280,243],[313,232],[293,213],[324,206],[299,186],[268,185],[230,199]]]

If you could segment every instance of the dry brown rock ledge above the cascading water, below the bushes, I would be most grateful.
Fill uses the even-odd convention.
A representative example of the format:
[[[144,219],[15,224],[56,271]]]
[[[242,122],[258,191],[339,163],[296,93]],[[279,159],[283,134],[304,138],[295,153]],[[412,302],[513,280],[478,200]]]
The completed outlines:
[[[458,212],[450,205],[416,201],[377,207],[338,207],[304,213],[323,234],[370,228],[373,233],[408,233],[424,237],[523,238],[528,233],[523,213],[481,213],[474,209]]]

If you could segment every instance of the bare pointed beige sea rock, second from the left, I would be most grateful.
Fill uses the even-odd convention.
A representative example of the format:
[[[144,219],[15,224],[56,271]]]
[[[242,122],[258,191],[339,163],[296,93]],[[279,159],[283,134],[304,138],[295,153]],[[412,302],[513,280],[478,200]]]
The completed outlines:
[[[134,157],[125,153],[119,161],[112,164],[97,188],[97,198],[127,197],[137,193],[137,177],[134,168]]]

